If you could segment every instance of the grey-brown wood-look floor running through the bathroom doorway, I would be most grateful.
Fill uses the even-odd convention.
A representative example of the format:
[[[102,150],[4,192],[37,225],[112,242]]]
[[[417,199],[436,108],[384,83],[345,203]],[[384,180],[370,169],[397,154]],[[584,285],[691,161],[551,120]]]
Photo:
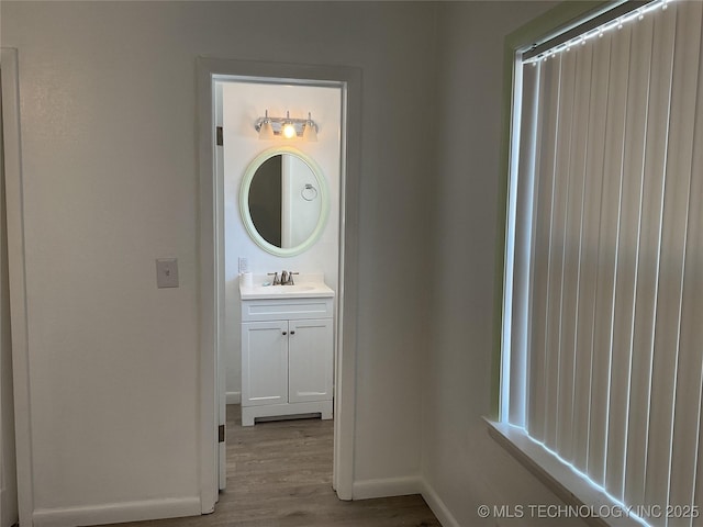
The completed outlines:
[[[419,495],[343,502],[332,490],[333,422],[241,426],[227,406],[227,489],[213,514],[122,527],[440,527]]]

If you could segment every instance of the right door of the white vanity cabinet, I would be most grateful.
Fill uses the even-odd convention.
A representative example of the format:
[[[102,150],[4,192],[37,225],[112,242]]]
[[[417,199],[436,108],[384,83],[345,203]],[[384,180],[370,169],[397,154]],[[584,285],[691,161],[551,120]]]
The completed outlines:
[[[332,319],[290,321],[288,400],[291,403],[332,400]]]

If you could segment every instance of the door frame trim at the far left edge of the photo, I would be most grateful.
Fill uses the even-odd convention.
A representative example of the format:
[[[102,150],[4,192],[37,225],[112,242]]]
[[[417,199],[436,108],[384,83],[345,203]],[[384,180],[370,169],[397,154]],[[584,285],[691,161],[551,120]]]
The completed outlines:
[[[14,437],[18,472],[18,508],[21,525],[32,525],[32,428],[30,416],[26,285],[24,267],[24,221],[22,156],[20,144],[20,79],[18,51],[1,49],[2,141],[8,222],[8,271],[12,330],[12,378],[14,385]]]

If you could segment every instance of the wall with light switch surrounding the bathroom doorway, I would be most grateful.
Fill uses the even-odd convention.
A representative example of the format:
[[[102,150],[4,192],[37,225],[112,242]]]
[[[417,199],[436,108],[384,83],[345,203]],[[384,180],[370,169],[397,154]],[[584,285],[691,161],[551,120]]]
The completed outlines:
[[[408,284],[428,270],[417,211],[429,206],[431,142],[417,123],[432,121],[434,5],[0,10],[1,44],[20,56],[34,519],[199,509],[201,55],[362,71],[354,473],[416,475],[427,293]],[[156,289],[160,257],[178,258],[180,288]]]

